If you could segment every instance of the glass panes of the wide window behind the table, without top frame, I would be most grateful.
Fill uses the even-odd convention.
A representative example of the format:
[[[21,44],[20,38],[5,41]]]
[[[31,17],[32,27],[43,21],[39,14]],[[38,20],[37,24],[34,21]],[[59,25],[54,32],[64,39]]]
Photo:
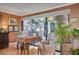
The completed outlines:
[[[54,32],[55,21],[53,16],[37,17],[23,21],[24,31],[28,31],[29,35],[39,35],[44,39],[48,39],[48,35]]]

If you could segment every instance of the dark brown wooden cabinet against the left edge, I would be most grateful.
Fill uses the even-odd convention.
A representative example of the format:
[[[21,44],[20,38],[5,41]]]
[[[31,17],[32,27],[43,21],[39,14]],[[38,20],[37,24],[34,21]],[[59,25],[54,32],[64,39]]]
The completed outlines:
[[[8,32],[0,33],[0,49],[7,48],[9,45]]]

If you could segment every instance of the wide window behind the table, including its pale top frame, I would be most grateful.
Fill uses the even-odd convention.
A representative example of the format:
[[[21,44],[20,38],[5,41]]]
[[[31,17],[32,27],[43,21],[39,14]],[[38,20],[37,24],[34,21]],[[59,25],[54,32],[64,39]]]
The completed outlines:
[[[56,26],[56,20],[61,18],[65,24],[68,24],[69,10],[62,10],[54,13],[28,17],[23,21],[23,30],[28,31],[29,35],[40,35],[44,39],[53,39],[53,33]],[[62,17],[59,17],[62,15]]]

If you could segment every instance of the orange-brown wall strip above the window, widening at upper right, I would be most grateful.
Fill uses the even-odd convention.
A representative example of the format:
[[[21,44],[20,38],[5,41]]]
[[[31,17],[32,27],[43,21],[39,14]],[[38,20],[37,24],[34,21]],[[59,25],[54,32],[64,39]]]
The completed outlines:
[[[51,13],[51,12],[56,12],[56,11],[61,11],[61,10],[66,10],[66,9],[70,9],[70,16],[71,17],[78,17],[79,18],[79,3],[72,4],[72,5],[65,6],[65,7],[56,8],[56,9],[51,9],[51,10],[41,11],[41,12],[37,12],[37,13],[32,13],[32,14],[29,14],[29,15],[24,15],[22,17],[25,18],[25,17],[29,17],[29,16],[35,16],[35,15],[40,15],[40,14],[45,14],[45,13]]]

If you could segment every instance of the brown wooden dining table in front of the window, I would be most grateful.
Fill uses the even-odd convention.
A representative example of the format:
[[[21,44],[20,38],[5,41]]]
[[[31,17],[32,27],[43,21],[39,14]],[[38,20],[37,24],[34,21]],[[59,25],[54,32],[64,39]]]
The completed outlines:
[[[23,46],[21,48],[21,54],[22,54],[23,51],[24,51],[24,54],[25,54],[25,48],[27,47],[27,54],[29,55],[29,45],[36,46],[35,44],[32,44],[32,42],[35,43],[35,42],[39,42],[39,41],[41,41],[41,37],[39,37],[39,36],[32,36],[32,37],[26,37],[26,38],[18,39],[18,43],[23,43]]]

